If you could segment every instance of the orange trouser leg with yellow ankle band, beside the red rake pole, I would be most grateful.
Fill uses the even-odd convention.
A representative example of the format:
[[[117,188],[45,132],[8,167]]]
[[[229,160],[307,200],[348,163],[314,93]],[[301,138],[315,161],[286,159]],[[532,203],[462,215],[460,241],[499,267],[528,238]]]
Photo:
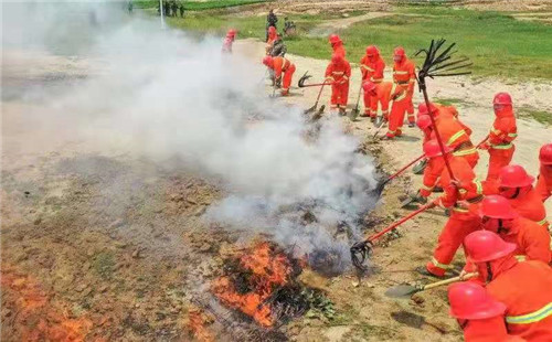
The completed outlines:
[[[480,225],[481,220],[479,216],[458,214],[453,210],[450,217],[439,234],[437,247],[433,252],[433,259],[426,265],[427,270],[436,276],[444,276],[464,238],[469,233],[479,229]]]

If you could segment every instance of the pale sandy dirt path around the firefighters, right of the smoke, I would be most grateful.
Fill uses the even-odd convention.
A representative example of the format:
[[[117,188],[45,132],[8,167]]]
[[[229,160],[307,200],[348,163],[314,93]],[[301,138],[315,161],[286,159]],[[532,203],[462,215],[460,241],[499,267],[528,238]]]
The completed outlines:
[[[236,43],[236,52],[243,52],[248,56],[256,57],[261,61],[263,55],[263,44],[254,41],[240,41]],[[312,82],[321,81],[326,62],[306,58],[300,56],[288,55],[289,60],[297,66],[296,79],[306,71],[314,75]],[[386,78],[390,78],[389,71]],[[359,84],[360,73],[353,71],[352,83]],[[350,100],[354,100],[358,94],[358,86],[352,86],[350,89]],[[269,92],[269,88],[267,87]],[[429,93],[434,98],[447,98],[458,101],[457,107],[463,120],[474,129],[475,140],[482,139],[493,120],[491,109],[491,100],[495,93],[506,90],[509,92],[516,106],[530,106],[533,108],[542,108],[551,111],[552,104],[548,101],[548,95],[552,94],[552,85],[548,84],[503,84],[499,81],[485,79],[474,81],[467,77],[442,78],[429,84]],[[305,108],[310,107],[316,99],[318,88],[294,88],[293,96],[283,98],[286,103],[296,104]],[[327,104],[329,100],[329,90],[325,90],[321,104]],[[420,94],[415,96],[415,104],[420,103]],[[351,104],[350,107],[353,105]],[[362,108],[362,106],[361,106]],[[343,119],[347,129],[350,129],[353,135],[365,140],[374,133],[374,128],[364,118],[357,122],[350,122],[349,119]],[[538,150],[545,141],[551,141],[552,129],[544,127],[541,124],[521,118],[518,120],[519,138],[517,140],[517,151],[513,162],[524,165],[529,172],[535,174],[538,172]],[[382,130],[383,132],[383,130]],[[396,170],[397,167],[412,160],[421,152],[421,133],[417,128],[405,128],[405,137],[392,142],[380,142],[376,145],[369,143],[373,150],[382,149],[384,151],[383,162],[389,161],[385,167],[389,171]],[[488,167],[487,153],[480,153],[480,161],[477,167],[477,172],[480,177],[485,177]],[[389,160],[385,160],[389,158]],[[395,183],[395,188],[389,189],[384,193],[381,206],[376,211],[376,215],[388,218],[404,215],[404,212],[397,210],[396,195],[404,189],[416,190],[421,185],[421,178],[416,175],[406,175],[401,181]],[[549,220],[552,218],[552,202],[546,203]],[[408,270],[416,266],[423,265],[431,256],[432,248],[440,231],[445,217],[438,212],[422,214],[411,223],[406,223],[401,231],[402,238],[383,244],[388,248],[376,248],[373,265],[381,267],[385,274],[376,274],[368,278],[359,288],[352,287],[352,279],[341,277],[329,285],[330,293],[336,298],[336,302],[344,310],[352,310],[353,314],[358,314],[358,322],[367,324],[367,327],[385,327],[384,332],[378,333],[379,341],[460,341],[456,334],[456,325],[447,316],[446,293],[444,289],[429,293],[422,293],[414,301],[395,301],[385,298],[382,293],[385,288],[395,282],[408,281],[418,279],[414,272],[393,272],[393,270]],[[458,258],[460,260],[461,258]],[[368,297],[368,298],[367,298]],[[417,302],[420,301],[420,302]],[[347,308],[347,309],[346,309]],[[427,321],[445,327],[448,333],[443,334],[435,327],[424,324],[418,329],[412,328],[415,325],[416,319],[410,321],[410,325],[397,323],[397,312],[403,312],[408,317],[410,313],[421,314]],[[408,312],[408,313],[404,313]],[[399,314],[399,316],[401,316]],[[418,320],[421,318],[417,318]],[[439,325],[439,327],[440,327]],[[328,329],[326,333],[332,334],[342,331],[350,331],[352,327],[341,327],[339,329]],[[375,328],[374,328],[375,329]],[[336,332],[337,331],[337,332]],[[322,333],[325,333],[322,331]],[[390,335],[385,335],[389,333]],[[393,334],[394,333],[394,334]],[[348,341],[346,335],[342,339],[336,338],[332,341]],[[407,336],[407,338],[406,338]],[[372,341],[371,339],[368,339]],[[375,341],[375,340],[374,340]]]

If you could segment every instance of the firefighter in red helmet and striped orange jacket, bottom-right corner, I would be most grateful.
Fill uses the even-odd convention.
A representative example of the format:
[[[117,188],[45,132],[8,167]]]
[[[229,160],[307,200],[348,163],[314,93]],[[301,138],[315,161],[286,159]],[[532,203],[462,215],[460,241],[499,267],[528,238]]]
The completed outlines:
[[[531,342],[552,341],[552,268],[539,260],[519,263],[516,244],[489,231],[469,234],[464,246],[478,280],[506,304],[508,332]]]

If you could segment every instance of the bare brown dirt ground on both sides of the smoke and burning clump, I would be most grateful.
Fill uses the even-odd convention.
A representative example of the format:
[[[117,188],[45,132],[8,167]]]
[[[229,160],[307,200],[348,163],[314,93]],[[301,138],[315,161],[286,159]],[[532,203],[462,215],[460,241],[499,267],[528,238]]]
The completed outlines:
[[[264,44],[254,41],[235,44],[235,53],[255,61],[261,61],[263,51]],[[220,272],[224,254],[240,243],[233,233],[200,220],[224,195],[222,186],[136,159],[123,146],[105,150],[71,136],[52,139],[52,131],[46,132],[47,139],[30,133],[32,129],[22,127],[29,122],[23,117],[40,115],[41,99],[19,98],[10,89],[55,92],[57,84],[102,72],[102,63],[29,52],[3,57],[2,341],[193,340],[189,321],[190,312],[198,310],[194,298],[202,295],[198,288]],[[315,79],[322,78],[325,61],[289,58],[298,68],[296,79],[307,70]],[[358,77],[355,71],[352,84],[359,84]],[[429,87],[434,97],[460,101],[460,116],[474,128],[476,140],[490,127],[489,104],[496,92],[510,92],[517,106],[552,110],[549,83],[456,77]],[[352,86],[352,100],[357,92]],[[294,88],[293,96],[282,100],[307,108],[316,93],[315,88]],[[326,93],[323,103],[328,97]],[[368,138],[374,130],[365,119],[343,119],[343,126],[364,140],[363,148],[390,172],[421,151],[417,129],[406,128],[405,137],[396,141],[375,143]],[[520,119],[519,132],[514,162],[534,174],[538,148],[550,141],[552,130]],[[486,164],[484,152],[480,175]],[[404,215],[396,197],[418,185],[420,177],[407,174],[388,186],[367,225],[382,227]],[[548,210],[552,211],[550,203]],[[440,212],[432,211],[384,238],[370,260],[371,274],[360,285],[352,271],[327,278],[306,270],[302,281],[326,291],[337,318],[307,316],[282,327],[280,332],[291,341],[461,341],[447,314],[445,289],[412,300],[383,295],[390,286],[420,279],[412,270],[431,256],[444,222]],[[216,340],[238,339],[212,317],[206,321]],[[266,340],[266,331],[259,331],[241,340]]]

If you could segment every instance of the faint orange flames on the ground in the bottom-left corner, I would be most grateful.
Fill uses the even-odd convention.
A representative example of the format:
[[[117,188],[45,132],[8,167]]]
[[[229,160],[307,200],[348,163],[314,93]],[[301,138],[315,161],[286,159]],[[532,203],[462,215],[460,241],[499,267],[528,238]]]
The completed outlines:
[[[1,288],[6,307],[15,311],[14,329],[22,341],[81,342],[92,328],[86,318],[70,319],[64,310],[57,310],[40,285],[2,265]]]

